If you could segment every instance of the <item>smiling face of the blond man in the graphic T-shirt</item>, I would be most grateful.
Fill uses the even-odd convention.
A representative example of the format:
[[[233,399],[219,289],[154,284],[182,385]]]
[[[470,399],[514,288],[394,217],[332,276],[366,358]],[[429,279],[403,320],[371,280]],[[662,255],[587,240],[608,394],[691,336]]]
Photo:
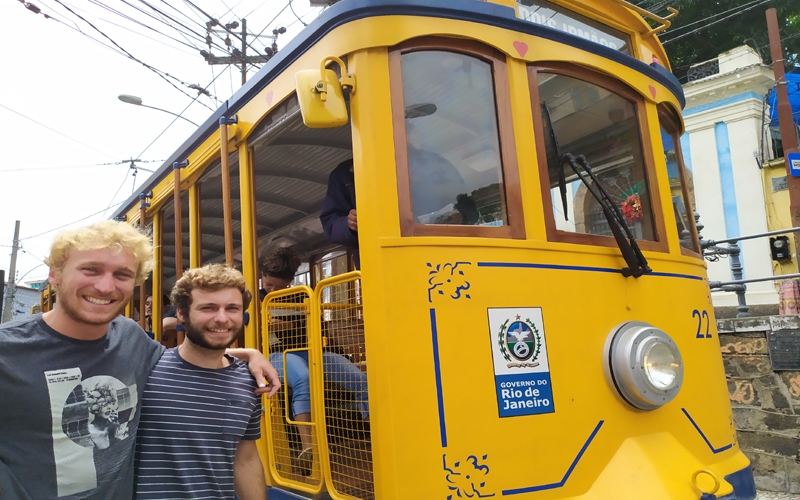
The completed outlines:
[[[126,250],[108,248],[73,250],[61,270],[50,270],[50,283],[57,287],[59,330],[67,336],[84,336],[105,329],[133,296],[139,262]],[[66,330],[66,331],[62,331]],[[87,331],[87,335],[89,332]]]

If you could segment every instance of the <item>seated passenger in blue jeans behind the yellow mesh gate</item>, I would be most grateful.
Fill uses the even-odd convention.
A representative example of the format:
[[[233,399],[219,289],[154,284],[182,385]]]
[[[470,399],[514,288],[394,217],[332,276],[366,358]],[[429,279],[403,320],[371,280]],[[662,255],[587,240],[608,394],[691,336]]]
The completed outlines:
[[[300,267],[300,256],[290,248],[279,248],[261,261],[261,300],[268,293],[283,290],[292,284],[297,269]],[[282,303],[302,302],[302,296],[295,295],[283,298]],[[276,308],[280,308],[276,304]],[[305,314],[294,309],[275,309],[270,314],[269,359],[283,376],[283,351],[285,349],[306,347]],[[369,403],[367,401],[367,376],[349,359],[329,351],[322,352],[325,380],[335,383],[349,391],[358,403],[363,421],[369,421]],[[292,413],[298,422],[311,422],[311,388],[308,374],[308,351],[286,353],[286,385],[292,389]],[[302,450],[298,463],[305,473],[310,472],[311,464],[311,428],[298,426]]]

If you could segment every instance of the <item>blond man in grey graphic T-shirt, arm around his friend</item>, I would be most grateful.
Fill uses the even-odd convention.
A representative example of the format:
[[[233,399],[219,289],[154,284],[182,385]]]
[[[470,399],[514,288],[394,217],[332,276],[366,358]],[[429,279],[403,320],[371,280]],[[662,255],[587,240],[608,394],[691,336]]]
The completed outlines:
[[[68,230],[45,260],[58,307],[0,325],[4,500],[130,500],[140,402],[164,348],[119,314],[152,259],[150,238],[125,223]],[[277,392],[263,356],[250,371]]]

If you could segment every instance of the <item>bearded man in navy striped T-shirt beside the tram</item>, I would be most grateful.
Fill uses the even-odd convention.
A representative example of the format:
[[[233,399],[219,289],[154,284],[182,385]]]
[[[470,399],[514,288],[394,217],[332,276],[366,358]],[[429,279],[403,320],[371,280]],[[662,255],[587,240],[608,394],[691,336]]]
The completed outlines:
[[[264,500],[261,401],[247,366],[225,354],[252,299],[244,276],[220,264],[190,269],[171,298],[186,338],[147,380],[135,498]]]

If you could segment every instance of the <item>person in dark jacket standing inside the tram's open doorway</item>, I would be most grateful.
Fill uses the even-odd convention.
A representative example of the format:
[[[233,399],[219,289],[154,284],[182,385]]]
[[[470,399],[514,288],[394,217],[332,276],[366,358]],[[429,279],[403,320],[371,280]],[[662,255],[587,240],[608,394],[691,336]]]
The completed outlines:
[[[325,193],[319,220],[330,241],[352,249],[353,263],[356,269],[361,269],[352,158],[337,165],[328,177],[328,191]]]

